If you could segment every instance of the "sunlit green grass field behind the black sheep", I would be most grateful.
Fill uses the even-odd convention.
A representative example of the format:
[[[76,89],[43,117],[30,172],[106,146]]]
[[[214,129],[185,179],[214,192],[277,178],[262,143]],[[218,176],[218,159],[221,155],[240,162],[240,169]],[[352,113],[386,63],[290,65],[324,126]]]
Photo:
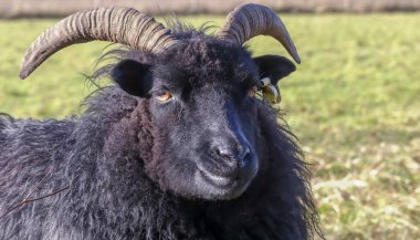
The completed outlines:
[[[283,18],[302,64],[280,84],[281,107],[312,164],[327,239],[420,239],[420,14]],[[81,113],[94,90],[83,74],[106,43],[71,46],[18,80],[25,48],[53,22],[0,21],[0,112]],[[285,53],[269,38],[250,45],[255,55]]]

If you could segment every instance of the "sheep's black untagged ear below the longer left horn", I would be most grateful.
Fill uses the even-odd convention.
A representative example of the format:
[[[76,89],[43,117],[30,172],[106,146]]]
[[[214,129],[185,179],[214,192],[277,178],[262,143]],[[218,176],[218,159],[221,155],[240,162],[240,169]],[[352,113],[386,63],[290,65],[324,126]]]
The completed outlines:
[[[114,66],[111,77],[125,92],[147,97],[153,85],[150,67],[134,60],[123,60]]]

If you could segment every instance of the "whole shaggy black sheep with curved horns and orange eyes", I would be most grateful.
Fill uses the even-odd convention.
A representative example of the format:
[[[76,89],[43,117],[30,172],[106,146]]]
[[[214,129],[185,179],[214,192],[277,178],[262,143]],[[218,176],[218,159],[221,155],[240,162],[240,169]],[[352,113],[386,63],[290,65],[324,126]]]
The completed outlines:
[[[107,39],[139,50],[111,53],[120,61],[95,76],[115,84],[90,96],[80,117],[0,116],[0,239],[312,238],[317,213],[302,152],[277,112],[255,97],[258,88],[276,94],[273,86],[295,66],[282,56],[252,59],[242,46],[261,28],[253,13],[281,23],[266,7],[245,4],[212,36],[180,23],[169,32],[113,8],[76,13],[41,35],[22,77],[75,42]],[[116,19],[124,23],[116,32],[127,34],[88,32],[87,14]],[[238,30],[239,18],[252,19],[239,24],[250,29]],[[141,21],[153,25],[127,36]],[[275,38],[298,61],[282,31]],[[51,32],[62,39],[50,40]]]

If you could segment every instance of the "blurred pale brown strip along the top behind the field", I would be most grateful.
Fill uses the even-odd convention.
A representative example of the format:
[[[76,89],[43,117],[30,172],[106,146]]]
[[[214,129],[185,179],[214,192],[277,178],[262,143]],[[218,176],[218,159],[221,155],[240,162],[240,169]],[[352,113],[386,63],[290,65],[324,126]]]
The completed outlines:
[[[225,13],[242,2],[263,3],[290,12],[416,11],[420,0],[0,0],[0,15],[62,17],[98,6],[128,6],[151,13]]]

